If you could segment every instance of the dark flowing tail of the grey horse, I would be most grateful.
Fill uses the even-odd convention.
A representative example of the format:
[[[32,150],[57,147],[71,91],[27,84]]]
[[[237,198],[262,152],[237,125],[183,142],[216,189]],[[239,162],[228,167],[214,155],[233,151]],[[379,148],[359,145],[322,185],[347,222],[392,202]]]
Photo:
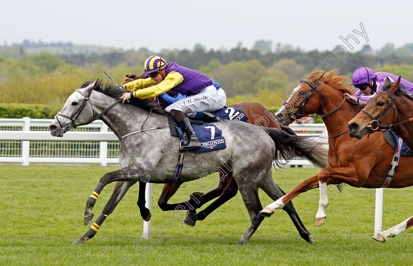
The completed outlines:
[[[288,162],[295,156],[304,157],[319,168],[328,165],[328,147],[324,139],[320,136],[298,136],[291,128],[285,126],[281,126],[281,129],[265,128],[278,151],[274,157],[277,166],[285,165],[285,163],[281,163],[281,159]]]

